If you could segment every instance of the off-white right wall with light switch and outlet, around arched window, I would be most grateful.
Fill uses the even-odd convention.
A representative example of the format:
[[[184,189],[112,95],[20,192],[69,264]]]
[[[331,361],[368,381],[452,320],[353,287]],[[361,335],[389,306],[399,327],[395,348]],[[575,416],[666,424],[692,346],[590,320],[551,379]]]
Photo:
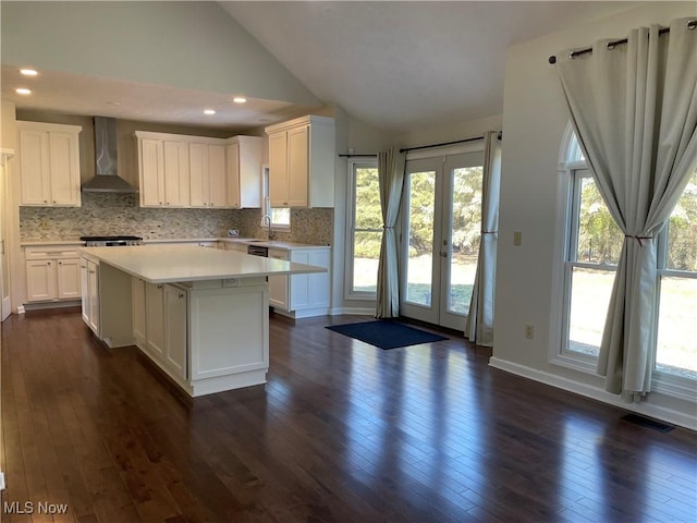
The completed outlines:
[[[571,390],[615,402],[599,377],[548,363],[560,344],[554,324],[559,281],[558,161],[567,109],[550,54],[586,47],[601,38],[624,37],[633,27],[668,25],[697,14],[697,2],[655,2],[647,7],[578,24],[567,31],[509,49],[505,64],[503,158],[499,252],[497,262],[496,339],[492,365]],[[523,244],[513,245],[513,232]],[[524,325],[535,326],[535,339],[524,338]],[[674,423],[697,426],[695,404],[651,393],[635,408]]]

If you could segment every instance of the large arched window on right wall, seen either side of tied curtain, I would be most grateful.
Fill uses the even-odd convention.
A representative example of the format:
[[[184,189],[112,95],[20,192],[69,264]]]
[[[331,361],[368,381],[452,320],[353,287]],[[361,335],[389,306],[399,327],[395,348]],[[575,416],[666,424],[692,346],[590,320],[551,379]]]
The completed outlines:
[[[573,134],[568,177],[562,343],[557,362],[595,372],[624,234],[585,166]],[[657,388],[694,390],[697,379],[697,170],[658,239]]]

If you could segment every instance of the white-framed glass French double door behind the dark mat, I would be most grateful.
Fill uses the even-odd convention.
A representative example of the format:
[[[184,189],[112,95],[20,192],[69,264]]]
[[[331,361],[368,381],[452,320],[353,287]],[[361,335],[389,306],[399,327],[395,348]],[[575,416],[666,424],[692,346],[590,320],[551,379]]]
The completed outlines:
[[[481,236],[484,153],[406,161],[400,314],[464,330]]]

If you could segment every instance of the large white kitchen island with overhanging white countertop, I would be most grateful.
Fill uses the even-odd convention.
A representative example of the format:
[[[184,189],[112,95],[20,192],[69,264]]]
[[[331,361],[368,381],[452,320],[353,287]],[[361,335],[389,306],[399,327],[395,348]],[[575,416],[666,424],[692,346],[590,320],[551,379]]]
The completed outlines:
[[[83,318],[192,397],[266,382],[268,276],[326,269],[188,245],[81,250]]]

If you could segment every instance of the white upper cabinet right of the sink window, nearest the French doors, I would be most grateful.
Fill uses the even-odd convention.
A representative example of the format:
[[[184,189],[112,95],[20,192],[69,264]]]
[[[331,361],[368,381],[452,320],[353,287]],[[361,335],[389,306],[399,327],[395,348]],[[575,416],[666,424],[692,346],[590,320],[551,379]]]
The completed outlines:
[[[316,115],[266,127],[271,207],[334,206],[334,132]]]

